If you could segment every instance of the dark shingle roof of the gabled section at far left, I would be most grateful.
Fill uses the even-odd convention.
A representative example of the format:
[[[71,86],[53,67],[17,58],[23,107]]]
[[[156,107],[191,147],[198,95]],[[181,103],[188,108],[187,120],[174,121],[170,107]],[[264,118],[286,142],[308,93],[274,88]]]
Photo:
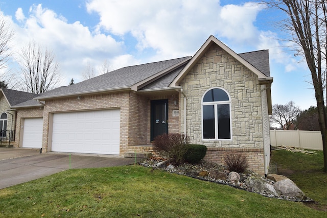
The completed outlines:
[[[9,102],[10,106],[14,106],[23,102],[26,102],[28,100],[32,100],[33,98],[36,98],[39,96],[38,94],[25,92],[25,91],[17,91],[13,89],[7,89],[7,88],[1,88],[4,94],[6,95],[6,98]],[[33,100],[35,101],[35,100]],[[36,102],[36,101],[35,101]]]

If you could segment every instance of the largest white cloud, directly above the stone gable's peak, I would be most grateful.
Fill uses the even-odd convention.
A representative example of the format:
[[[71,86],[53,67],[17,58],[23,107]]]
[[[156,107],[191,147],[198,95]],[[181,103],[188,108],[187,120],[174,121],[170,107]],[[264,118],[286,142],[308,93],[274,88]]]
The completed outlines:
[[[253,23],[264,7],[254,3],[222,6],[217,0],[91,0],[86,8],[100,16],[99,30],[121,38],[132,35],[135,49],[150,50],[155,61],[193,55],[209,35],[253,47],[260,35]]]

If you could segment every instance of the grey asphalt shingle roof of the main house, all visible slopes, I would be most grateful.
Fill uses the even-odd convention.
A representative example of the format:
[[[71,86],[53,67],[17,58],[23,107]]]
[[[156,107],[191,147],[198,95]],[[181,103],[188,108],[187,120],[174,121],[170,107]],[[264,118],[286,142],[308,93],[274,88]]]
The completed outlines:
[[[269,53],[268,50],[248,52],[239,54],[244,60],[253,65],[256,69],[263,72],[267,77],[270,76]],[[158,72],[164,71],[169,67],[189,59],[190,57],[176,58],[171,60],[146,63],[123,67],[107,74],[76,83],[71,86],[63,86],[48,92],[42,93],[36,99],[51,98],[52,96],[74,95],[79,93],[91,93],[102,90],[114,90],[129,88],[138,82],[144,81]],[[156,81],[142,87],[141,90],[168,87],[176,76],[181,72],[186,64],[174,69],[169,74],[158,78]],[[30,102],[32,103],[32,102]]]

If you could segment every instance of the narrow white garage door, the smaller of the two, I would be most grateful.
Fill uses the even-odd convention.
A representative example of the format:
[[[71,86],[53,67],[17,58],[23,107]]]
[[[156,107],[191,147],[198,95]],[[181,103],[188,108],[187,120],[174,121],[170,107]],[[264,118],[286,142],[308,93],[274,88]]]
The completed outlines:
[[[43,118],[26,118],[23,126],[22,147],[42,148]]]

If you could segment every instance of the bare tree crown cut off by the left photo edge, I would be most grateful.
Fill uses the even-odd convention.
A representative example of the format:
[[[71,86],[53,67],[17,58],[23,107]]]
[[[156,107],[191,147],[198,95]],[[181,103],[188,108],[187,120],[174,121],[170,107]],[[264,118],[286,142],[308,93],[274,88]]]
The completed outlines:
[[[8,26],[4,15],[0,15],[0,69],[7,66],[8,60],[12,55],[10,41],[13,37],[13,30]]]

